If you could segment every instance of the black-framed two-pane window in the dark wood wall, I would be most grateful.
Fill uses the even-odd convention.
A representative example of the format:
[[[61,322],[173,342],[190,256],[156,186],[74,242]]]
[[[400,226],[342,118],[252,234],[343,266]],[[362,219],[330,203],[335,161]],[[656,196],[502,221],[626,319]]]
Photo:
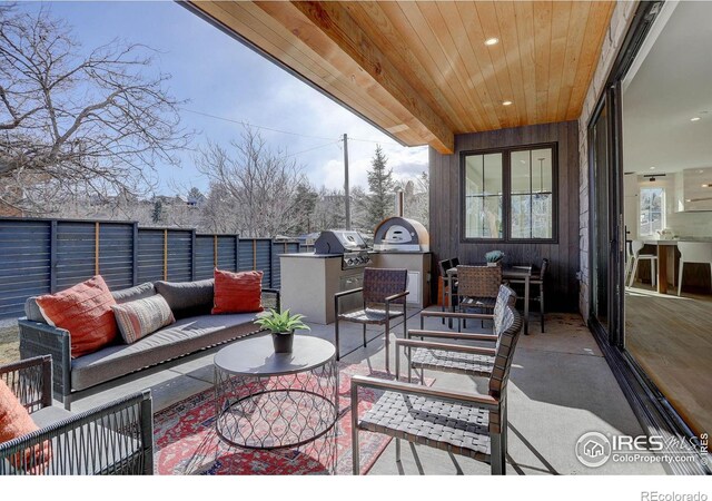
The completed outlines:
[[[556,145],[463,154],[463,239],[556,238]]]

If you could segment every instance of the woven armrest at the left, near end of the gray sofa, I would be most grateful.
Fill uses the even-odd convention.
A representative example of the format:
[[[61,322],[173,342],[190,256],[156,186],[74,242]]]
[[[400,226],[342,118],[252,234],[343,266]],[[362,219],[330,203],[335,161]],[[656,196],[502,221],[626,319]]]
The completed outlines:
[[[52,381],[55,394],[61,397],[69,410],[71,393],[71,336],[69,331],[40,322],[20,318],[20,358],[52,356]]]

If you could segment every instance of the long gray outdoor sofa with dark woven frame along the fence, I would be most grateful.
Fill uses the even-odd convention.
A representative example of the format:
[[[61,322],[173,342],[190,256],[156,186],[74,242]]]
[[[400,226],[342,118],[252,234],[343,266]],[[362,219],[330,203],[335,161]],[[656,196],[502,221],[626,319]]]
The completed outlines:
[[[26,317],[20,327],[22,360],[52,355],[55,394],[67,410],[72,392],[140,371],[172,358],[206,350],[259,331],[253,321],[255,313],[211,315],[214,279],[197,282],[146,283],[111,292],[118,304],[161,294],[170,306],[176,323],[138,340],[123,344],[120,340],[97,352],[71,358],[71,333],[49,325],[33,297],[28,298]],[[263,288],[263,305],[279,308],[279,292]]]

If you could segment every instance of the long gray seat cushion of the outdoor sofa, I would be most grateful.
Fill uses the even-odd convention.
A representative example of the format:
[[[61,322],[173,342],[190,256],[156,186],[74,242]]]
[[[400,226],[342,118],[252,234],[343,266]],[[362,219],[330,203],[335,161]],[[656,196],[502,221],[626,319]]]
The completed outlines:
[[[129,345],[107,346],[71,361],[75,391],[256,332],[254,313],[182,318]]]

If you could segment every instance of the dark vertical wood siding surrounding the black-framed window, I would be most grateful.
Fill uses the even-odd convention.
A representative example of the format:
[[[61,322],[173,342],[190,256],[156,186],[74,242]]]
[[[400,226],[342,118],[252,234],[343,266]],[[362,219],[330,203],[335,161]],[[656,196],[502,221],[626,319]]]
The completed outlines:
[[[558,242],[465,243],[461,240],[461,153],[556,143],[558,148]],[[505,253],[505,264],[551,262],[546,310],[578,311],[578,124],[566,121],[491,132],[455,136],[455,154],[441,155],[431,148],[431,250],[434,259],[459,257],[461,263],[484,262],[487,250]],[[434,265],[436,264],[434,263]],[[434,266],[433,269],[437,269]],[[436,286],[437,282],[433,281]]]

